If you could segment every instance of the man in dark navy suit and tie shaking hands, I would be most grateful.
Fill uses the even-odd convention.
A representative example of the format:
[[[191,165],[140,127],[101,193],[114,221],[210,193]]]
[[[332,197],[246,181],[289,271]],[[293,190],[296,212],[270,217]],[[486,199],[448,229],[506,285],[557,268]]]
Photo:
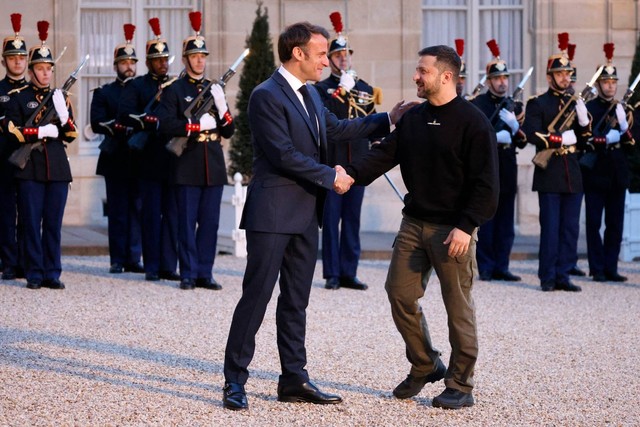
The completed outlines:
[[[343,193],[352,179],[344,169],[327,166],[327,141],[382,137],[406,109],[400,103],[387,114],[338,120],[325,109],[307,81],[318,81],[329,65],[329,34],[308,22],[287,27],[278,40],[282,66],[256,87],[249,100],[253,135],[253,179],[241,227],[247,231],[247,267],[242,297],[227,341],[223,404],[247,409],[244,391],[248,366],[278,275],[277,340],[282,375],[278,400],[340,403],[323,393],[305,370],[306,307],[318,253],[318,225],[327,190]]]

